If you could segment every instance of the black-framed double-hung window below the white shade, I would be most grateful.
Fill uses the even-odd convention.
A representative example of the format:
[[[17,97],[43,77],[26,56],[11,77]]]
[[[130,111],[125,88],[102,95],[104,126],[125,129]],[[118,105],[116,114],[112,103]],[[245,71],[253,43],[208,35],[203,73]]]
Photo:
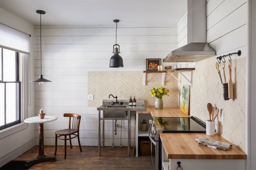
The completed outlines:
[[[0,130],[20,123],[19,53],[0,48]]]

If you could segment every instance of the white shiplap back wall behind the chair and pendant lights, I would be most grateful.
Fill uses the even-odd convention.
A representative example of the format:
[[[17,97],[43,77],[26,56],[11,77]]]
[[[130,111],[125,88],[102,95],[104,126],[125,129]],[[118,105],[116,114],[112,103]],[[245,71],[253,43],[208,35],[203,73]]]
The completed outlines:
[[[115,43],[115,25],[111,26],[43,26],[42,74],[52,82],[35,85],[35,116],[42,108],[58,120],[44,124],[44,144],[54,145],[54,132],[67,128],[63,113],[79,113],[82,145],[97,145],[98,112],[87,107],[88,71],[143,71],[146,58],[164,58],[177,48],[177,27],[122,27],[118,26],[117,40],[124,68],[109,68]],[[40,29],[35,26],[35,78],[40,74]],[[170,63],[165,63],[170,65]],[[164,64],[164,65],[165,65]],[[128,93],[129,91],[127,91]],[[111,92],[115,95],[115,91]],[[132,138],[133,125],[132,119]],[[120,121],[118,124],[120,125]],[[106,121],[105,145],[112,145],[112,121]],[[127,145],[127,121],[123,121],[122,140]],[[120,128],[114,136],[120,144]],[[38,125],[35,125],[38,136]],[[63,141],[58,141],[63,145]],[[77,140],[73,142],[77,145]]]

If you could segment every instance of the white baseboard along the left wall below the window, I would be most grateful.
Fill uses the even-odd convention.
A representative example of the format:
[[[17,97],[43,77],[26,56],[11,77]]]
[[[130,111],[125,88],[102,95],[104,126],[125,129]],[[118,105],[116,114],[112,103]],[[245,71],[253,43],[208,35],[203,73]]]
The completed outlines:
[[[36,144],[35,138],[31,138],[27,142],[24,142],[23,144],[13,148],[12,150],[6,152],[5,154],[0,156],[0,167],[8,163],[9,161],[13,160],[14,158],[17,158],[25,151],[29,150],[30,148],[34,147]]]

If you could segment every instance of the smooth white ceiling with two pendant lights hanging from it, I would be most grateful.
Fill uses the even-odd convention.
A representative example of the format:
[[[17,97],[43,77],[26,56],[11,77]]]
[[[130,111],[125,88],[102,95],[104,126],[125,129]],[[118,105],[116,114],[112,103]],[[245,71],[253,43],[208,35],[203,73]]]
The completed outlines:
[[[187,0],[0,0],[0,8],[40,25],[177,26]]]

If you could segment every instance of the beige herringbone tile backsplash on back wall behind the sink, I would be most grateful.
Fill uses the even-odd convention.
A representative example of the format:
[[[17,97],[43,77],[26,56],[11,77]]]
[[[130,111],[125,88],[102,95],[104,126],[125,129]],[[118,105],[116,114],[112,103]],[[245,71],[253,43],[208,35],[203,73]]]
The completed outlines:
[[[146,86],[143,86],[142,71],[89,71],[88,94],[94,94],[94,100],[88,100],[89,107],[97,107],[103,99],[108,99],[109,94],[118,96],[118,99],[146,100],[147,106],[154,107],[155,97],[149,91],[152,87],[166,87],[169,96],[163,97],[164,107],[178,107],[177,80],[170,74],[165,76],[165,86],[162,86],[162,74],[147,73]],[[113,99],[113,98],[111,98]]]

